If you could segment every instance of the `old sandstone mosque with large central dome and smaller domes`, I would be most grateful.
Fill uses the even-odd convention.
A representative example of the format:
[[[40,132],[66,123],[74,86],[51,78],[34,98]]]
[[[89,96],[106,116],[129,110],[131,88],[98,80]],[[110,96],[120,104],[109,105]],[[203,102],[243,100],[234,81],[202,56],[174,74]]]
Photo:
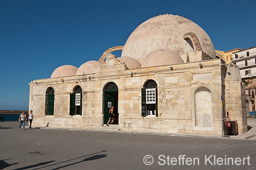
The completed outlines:
[[[31,81],[29,107],[38,127],[221,135],[228,111],[247,131],[239,68],[216,58],[200,26],[171,14],[146,20],[97,61]]]

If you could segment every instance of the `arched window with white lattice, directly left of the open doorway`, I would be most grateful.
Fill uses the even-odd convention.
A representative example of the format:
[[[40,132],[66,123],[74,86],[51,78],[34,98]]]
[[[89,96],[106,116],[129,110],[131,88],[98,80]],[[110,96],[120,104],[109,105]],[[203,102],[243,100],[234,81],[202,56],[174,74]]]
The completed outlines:
[[[76,86],[70,94],[70,115],[82,115],[82,88]]]

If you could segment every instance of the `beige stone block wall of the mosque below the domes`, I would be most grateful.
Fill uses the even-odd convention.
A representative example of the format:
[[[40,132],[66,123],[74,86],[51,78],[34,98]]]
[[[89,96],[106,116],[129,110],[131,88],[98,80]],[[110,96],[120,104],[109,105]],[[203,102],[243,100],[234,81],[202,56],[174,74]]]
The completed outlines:
[[[199,64],[200,63],[200,64]],[[62,78],[34,80],[30,83],[30,110],[35,114],[34,125],[69,128],[98,128],[103,125],[103,94],[108,82],[118,86],[119,127],[126,131],[183,132],[189,134],[222,134],[221,95],[233,94],[226,86],[241,84],[225,78],[222,72],[226,66],[221,60],[207,60],[194,63],[166,65],[162,67],[127,69],[125,64],[108,56],[98,73]],[[154,80],[158,89],[158,117],[142,117],[142,92],[144,83]],[[69,115],[69,95],[77,86],[82,88],[82,115]],[[46,90],[55,90],[54,115],[46,115]],[[211,96],[212,109],[203,110],[210,117],[196,124],[195,93],[200,87],[207,88]],[[239,86],[241,88],[241,85]],[[236,89],[236,88],[234,88]],[[226,107],[239,102],[243,94],[236,89],[236,99],[226,99]],[[235,91],[234,91],[235,92]],[[236,91],[237,92],[237,91]],[[203,94],[204,97],[204,94]],[[209,98],[209,96],[208,96]],[[241,102],[241,99],[240,99]],[[203,102],[200,102],[203,105]],[[238,103],[232,114],[240,121],[238,126],[247,126]],[[204,106],[201,106],[204,108]],[[206,115],[204,115],[205,117]],[[241,132],[245,132],[242,130]]]

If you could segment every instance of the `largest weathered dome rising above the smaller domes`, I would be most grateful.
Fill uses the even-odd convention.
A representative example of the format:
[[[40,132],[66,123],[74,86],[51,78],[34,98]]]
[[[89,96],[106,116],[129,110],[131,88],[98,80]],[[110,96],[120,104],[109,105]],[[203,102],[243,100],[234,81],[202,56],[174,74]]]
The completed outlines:
[[[157,49],[170,49],[179,55],[193,52],[198,44],[192,47],[184,37],[187,34],[192,34],[191,41],[197,37],[201,50],[215,59],[212,41],[200,26],[182,16],[168,14],[155,16],[139,25],[127,39],[121,56],[133,57],[141,63]]]

